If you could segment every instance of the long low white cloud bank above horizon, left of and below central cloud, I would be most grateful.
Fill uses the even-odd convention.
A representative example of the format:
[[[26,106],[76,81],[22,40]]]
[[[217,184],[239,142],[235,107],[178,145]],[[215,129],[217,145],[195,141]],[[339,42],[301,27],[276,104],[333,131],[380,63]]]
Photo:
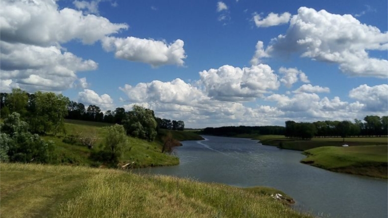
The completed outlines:
[[[282,114],[270,106],[252,108],[241,103],[210,98],[206,91],[181,79],[171,82],[152,81],[135,86],[125,85],[120,90],[126,93],[131,102],[124,105],[126,110],[130,110],[133,105],[141,105],[154,110],[156,116],[185,120],[186,125],[190,127],[214,124],[269,125]]]

